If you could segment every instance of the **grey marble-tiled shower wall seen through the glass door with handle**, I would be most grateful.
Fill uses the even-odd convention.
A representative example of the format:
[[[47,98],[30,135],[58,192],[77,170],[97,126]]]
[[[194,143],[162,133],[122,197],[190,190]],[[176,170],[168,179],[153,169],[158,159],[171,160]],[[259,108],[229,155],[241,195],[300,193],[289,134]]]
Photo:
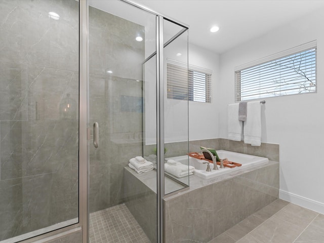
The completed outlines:
[[[143,153],[142,62],[144,27],[89,7],[90,124],[99,123],[99,147],[90,146],[90,211],[123,202],[123,173]],[[112,71],[109,73],[107,71]]]

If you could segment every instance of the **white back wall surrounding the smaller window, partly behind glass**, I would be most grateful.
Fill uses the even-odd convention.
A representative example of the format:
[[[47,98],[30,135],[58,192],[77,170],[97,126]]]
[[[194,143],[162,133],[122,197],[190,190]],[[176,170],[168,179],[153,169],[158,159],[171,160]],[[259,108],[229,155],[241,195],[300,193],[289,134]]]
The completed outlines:
[[[213,71],[212,74],[212,102],[200,103],[189,101],[189,140],[218,138],[218,112],[217,94],[219,79],[219,55],[204,48],[189,45],[188,62],[190,65],[203,67]],[[177,53],[182,53],[177,57]],[[187,44],[183,36],[176,39],[165,48],[165,61],[167,58],[186,62]],[[155,63],[150,61],[145,65],[145,144],[156,142],[156,94],[155,94]],[[167,72],[165,65],[165,80]],[[167,84],[165,81],[165,97],[167,97]],[[188,139],[188,112],[187,101],[165,99],[165,142],[180,142]]]

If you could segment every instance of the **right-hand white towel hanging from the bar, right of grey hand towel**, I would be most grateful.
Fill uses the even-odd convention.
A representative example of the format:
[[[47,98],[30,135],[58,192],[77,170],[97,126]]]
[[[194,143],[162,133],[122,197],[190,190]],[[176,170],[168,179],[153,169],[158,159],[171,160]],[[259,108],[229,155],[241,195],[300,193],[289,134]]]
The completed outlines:
[[[244,143],[261,145],[261,105],[260,101],[248,102],[247,120],[244,121]]]

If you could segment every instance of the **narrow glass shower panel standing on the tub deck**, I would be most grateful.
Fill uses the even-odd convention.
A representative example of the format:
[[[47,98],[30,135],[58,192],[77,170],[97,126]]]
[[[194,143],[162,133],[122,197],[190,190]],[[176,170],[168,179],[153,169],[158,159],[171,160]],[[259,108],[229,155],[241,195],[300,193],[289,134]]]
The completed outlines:
[[[165,194],[189,186],[188,29],[164,20]]]

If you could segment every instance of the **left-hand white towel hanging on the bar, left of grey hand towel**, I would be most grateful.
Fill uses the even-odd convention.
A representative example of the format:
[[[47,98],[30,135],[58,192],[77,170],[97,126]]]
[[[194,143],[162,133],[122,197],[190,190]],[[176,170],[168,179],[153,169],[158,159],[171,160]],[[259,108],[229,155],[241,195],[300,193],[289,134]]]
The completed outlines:
[[[242,121],[238,120],[238,104],[228,105],[228,139],[241,141]]]

